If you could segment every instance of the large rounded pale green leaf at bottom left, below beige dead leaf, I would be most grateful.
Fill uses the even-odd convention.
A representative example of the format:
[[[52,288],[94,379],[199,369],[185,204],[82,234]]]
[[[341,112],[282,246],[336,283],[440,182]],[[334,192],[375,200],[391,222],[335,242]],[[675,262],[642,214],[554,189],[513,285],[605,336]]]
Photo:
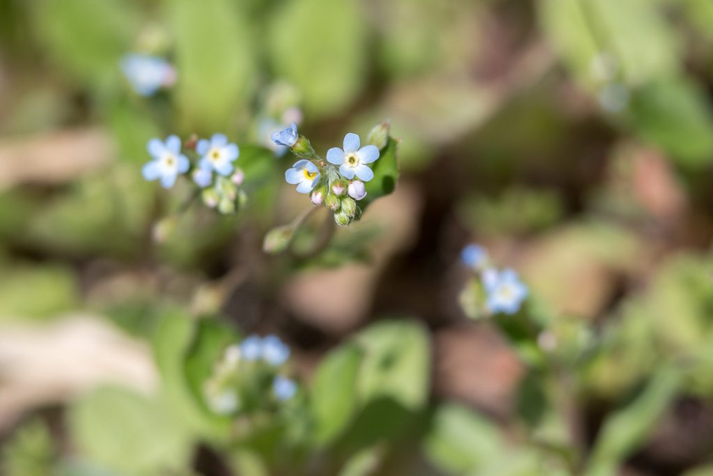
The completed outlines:
[[[130,475],[185,470],[192,442],[158,402],[118,388],[97,390],[76,402],[69,427],[81,453]]]

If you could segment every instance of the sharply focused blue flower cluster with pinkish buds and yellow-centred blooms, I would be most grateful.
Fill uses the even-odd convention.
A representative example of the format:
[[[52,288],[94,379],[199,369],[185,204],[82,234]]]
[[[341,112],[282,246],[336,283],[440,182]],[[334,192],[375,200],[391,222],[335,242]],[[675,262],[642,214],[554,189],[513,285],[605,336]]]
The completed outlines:
[[[309,193],[314,205],[324,203],[334,211],[337,225],[348,226],[361,218],[357,201],[366,197],[364,182],[374,178],[369,164],[379,158],[389,138],[389,122],[377,124],[369,133],[368,144],[361,146],[361,139],[353,133],[344,136],[343,148],[327,151],[327,162],[319,158],[309,140],[297,134],[297,124],[272,133],[272,140],[279,146],[287,146],[294,155],[302,157],[284,173],[287,183],[297,185],[299,193]]]

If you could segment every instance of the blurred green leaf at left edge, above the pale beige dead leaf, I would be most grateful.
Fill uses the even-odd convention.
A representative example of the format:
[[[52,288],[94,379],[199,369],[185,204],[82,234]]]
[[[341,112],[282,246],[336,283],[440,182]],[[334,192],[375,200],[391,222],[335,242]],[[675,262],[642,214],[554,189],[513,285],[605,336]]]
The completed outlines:
[[[46,318],[79,305],[78,278],[65,265],[19,265],[0,272],[0,315]]]

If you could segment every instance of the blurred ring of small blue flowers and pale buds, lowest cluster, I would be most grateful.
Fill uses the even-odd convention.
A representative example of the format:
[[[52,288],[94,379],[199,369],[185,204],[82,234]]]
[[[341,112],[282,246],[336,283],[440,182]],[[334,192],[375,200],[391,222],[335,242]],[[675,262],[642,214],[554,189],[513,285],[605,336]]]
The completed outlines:
[[[292,400],[297,383],[284,375],[288,359],[289,347],[276,335],[251,335],[230,345],[203,385],[207,406],[236,415]]]

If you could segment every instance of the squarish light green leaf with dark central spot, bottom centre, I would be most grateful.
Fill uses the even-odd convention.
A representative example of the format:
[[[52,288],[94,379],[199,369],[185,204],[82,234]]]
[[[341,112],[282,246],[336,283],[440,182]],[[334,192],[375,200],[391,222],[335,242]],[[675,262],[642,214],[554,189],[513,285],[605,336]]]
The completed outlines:
[[[357,392],[363,402],[391,397],[410,410],[426,404],[431,375],[429,335],[410,320],[384,320],[356,337],[364,349]]]

